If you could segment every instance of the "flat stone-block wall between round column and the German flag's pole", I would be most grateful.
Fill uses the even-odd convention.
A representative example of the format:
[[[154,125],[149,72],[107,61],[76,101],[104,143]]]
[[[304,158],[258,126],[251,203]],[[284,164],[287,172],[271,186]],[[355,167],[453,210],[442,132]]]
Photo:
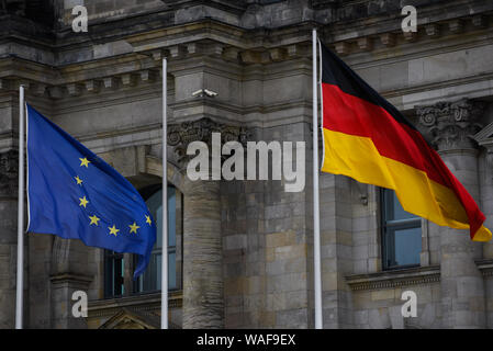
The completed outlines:
[[[309,133],[304,123],[256,128],[251,140],[299,141]],[[227,328],[311,325],[306,189],[287,193],[283,181],[223,182]]]

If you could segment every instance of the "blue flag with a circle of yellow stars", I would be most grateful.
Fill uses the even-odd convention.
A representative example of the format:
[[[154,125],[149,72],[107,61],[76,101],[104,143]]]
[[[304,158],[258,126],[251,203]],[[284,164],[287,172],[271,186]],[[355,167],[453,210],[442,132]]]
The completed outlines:
[[[135,188],[27,105],[27,231],[80,239],[149,262],[156,225]]]

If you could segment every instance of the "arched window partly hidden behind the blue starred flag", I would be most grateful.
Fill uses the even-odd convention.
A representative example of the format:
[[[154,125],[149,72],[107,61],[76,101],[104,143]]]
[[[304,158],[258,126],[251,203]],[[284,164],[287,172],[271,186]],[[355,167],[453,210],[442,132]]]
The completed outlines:
[[[104,297],[119,297],[128,294],[152,293],[161,290],[161,248],[163,248],[163,190],[160,185],[148,186],[141,191],[147,207],[156,220],[157,238],[146,271],[134,282],[133,271],[137,257],[128,253],[104,251]],[[181,193],[168,185],[168,288],[180,288],[181,256],[177,257],[177,228],[181,233]],[[178,235],[181,244],[181,235]],[[181,247],[181,245],[180,245]],[[181,252],[181,249],[180,249]],[[125,264],[131,264],[125,272]],[[126,275],[128,276],[126,276]],[[126,286],[133,291],[125,292]]]

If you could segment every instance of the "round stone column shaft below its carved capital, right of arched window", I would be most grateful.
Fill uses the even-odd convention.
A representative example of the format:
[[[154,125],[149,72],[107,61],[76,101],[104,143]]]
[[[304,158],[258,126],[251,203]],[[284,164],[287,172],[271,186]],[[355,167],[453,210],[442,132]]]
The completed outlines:
[[[183,205],[183,328],[223,328],[220,183],[194,182]]]

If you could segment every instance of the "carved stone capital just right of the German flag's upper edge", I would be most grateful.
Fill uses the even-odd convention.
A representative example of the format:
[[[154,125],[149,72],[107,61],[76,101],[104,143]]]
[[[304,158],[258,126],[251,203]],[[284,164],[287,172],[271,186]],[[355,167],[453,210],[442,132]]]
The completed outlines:
[[[478,120],[485,104],[471,100],[438,102],[417,109],[419,124],[432,136],[433,146],[439,150],[474,149],[473,136],[482,128]]]

